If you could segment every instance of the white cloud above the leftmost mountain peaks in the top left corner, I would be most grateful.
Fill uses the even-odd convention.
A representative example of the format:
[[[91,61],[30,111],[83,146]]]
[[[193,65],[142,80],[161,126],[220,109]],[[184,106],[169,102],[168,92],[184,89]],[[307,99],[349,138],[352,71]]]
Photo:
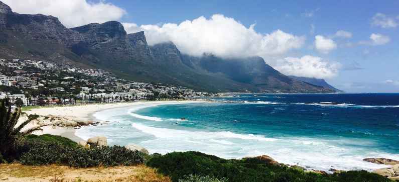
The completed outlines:
[[[119,20],[126,12],[110,3],[86,0],[3,0],[14,12],[20,14],[44,14],[59,18],[66,27],[89,23]]]

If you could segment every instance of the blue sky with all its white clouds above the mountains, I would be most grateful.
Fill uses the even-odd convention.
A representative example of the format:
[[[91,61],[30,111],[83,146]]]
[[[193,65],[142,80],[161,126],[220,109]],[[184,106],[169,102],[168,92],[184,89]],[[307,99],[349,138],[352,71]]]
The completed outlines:
[[[2,0],[0,0],[2,1]],[[116,20],[182,53],[260,56],[354,93],[399,93],[399,1],[3,0],[68,28]]]

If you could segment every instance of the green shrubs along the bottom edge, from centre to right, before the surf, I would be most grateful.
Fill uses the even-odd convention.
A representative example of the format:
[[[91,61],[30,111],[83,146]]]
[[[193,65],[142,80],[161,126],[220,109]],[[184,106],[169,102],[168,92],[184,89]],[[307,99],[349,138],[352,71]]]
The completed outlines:
[[[222,159],[200,152],[172,152],[152,157],[147,165],[169,175],[172,181],[190,181],[198,176],[210,176],[228,181],[391,181],[367,171],[348,171],[337,174],[318,174],[286,165],[266,163],[256,158]],[[195,176],[198,175],[198,176]],[[190,179],[190,177],[189,177]],[[198,180],[191,180],[198,181]]]

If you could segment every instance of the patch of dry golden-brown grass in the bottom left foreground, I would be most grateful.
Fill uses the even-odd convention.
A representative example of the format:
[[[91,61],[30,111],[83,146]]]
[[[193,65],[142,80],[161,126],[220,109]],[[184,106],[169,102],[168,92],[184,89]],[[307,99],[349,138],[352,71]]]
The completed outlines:
[[[71,168],[60,165],[27,166],[0,164],[0,181],[156,181],[169,182],[169,177],[145,165]]]

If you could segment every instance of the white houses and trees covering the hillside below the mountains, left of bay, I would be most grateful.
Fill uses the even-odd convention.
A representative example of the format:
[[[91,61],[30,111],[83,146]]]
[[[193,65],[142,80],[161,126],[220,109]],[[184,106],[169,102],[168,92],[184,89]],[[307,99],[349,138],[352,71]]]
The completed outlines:
[[[129,81],[101,69],[22,59],[0,59],[0,88],[1,92],[12,92],[2,94],[4,98],[23,95],[21,98],[26,105],[74,104],[76,100],[124,102],[210,96],[178,85]]]

